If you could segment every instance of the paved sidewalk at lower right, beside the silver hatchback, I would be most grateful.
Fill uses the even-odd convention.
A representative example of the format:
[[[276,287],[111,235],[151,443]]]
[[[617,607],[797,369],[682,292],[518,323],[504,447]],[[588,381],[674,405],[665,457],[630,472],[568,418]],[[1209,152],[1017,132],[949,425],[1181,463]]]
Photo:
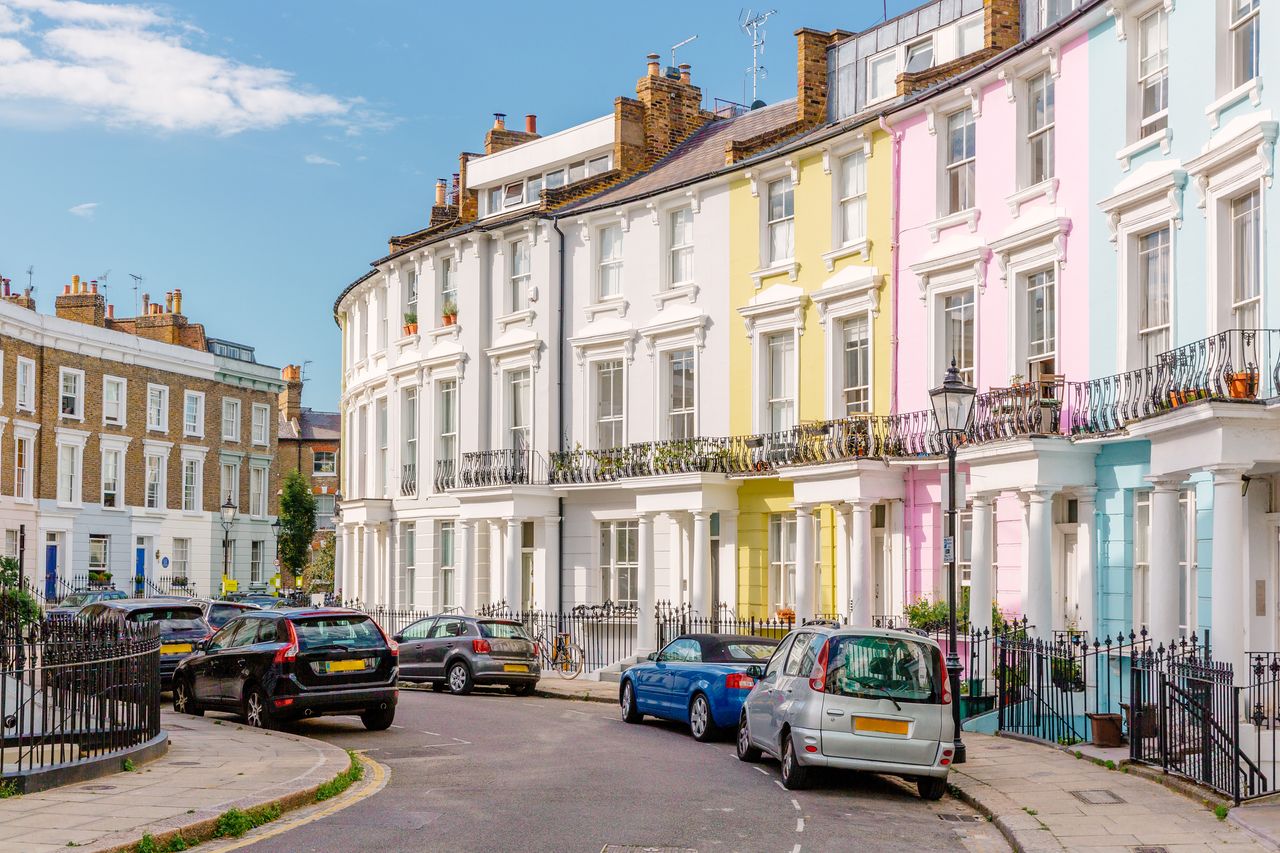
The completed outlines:
[[[1015,738],[966,733],[951,784],[1019,850],[1272,849],[1164,785]]]

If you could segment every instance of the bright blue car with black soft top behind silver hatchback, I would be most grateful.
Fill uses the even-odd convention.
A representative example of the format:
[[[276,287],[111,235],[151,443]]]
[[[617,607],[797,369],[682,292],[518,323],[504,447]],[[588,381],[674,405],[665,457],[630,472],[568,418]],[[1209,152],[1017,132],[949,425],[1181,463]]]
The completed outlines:
[[[748,669],[763,667],[777,644],[767,637],[677,637],[622,674],[622,719],[640,722],[650,715],[687,722],[694,738],[712,740],[721,729],[737,725],[742,701],[755,686]]]

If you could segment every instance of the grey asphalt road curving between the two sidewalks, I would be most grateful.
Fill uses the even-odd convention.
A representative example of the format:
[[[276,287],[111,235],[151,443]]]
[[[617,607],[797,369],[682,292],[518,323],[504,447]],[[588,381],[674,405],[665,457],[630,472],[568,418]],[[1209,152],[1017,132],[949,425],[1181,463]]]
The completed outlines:
[[[787,792],[776,762],[742,763],[727,738],[700,744],[682,726],[631,726],[602,703],[404,690],[388,731],[347,717],[291,730],[365,749],[390,779],[349,808],[248,847],[256,853],[1009,849],[950,797],[925,803],[914,785],[844,772]]]

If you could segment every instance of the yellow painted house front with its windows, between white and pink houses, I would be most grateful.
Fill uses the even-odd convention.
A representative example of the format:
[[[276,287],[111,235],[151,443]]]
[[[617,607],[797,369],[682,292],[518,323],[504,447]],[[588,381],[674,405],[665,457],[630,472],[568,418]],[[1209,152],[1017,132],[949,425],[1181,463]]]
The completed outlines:
[[[731,321],[745,325],[730,350],[733,434],[767,450],[850,412],[888,412],[891,167],[890,137],[863,124],[751,161],[731,183]],[[774,616],[797,594],[844,612],[833,507],[795,505],[785,471],[737,494],[740,615]],[[812,574],[796,575],[797,561]]]

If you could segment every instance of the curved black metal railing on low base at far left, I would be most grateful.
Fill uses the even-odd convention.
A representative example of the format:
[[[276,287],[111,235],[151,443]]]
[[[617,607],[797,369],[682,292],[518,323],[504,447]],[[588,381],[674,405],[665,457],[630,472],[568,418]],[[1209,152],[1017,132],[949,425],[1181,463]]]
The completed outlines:
[[[160,637],[154,626],[24,622],[0,612],[0,767],[88,762],[160,734]]]

